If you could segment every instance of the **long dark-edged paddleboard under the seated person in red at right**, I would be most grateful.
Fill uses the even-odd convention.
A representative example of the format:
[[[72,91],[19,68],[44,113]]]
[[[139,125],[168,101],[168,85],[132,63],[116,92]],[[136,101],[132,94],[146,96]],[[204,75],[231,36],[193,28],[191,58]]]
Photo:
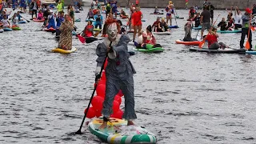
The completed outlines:
[[[196,52],[207,52],[207,53],[223,53],[223,54],[245,54],[246,50],[244,49],[230,49],[226,48],[224,50],[218,49],[218,50],[209,50],[208,48],[190,48],[190,51],[196,51]]]

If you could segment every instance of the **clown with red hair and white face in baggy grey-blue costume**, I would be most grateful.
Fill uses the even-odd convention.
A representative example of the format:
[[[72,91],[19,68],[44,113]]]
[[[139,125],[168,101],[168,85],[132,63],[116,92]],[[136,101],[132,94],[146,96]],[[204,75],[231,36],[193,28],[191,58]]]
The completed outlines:
[[[118,34],[120,26],[114,19],[106,21],[108,37],[99,43],[96,49],[98,58],[95,70],[95,82],[101,78],[100,70],[107,54],[106,73],[106,95],[103,102],[103,122],[99,130],[104,130],[113,113],[112,106],[114,96],[122,90],[125,98],[125,112],[122,118],[127,120],[127,125],[134,125],[133,120],[137,118],[134,106],[134,66],[130,62],[127,44],[130,38],[127,34]]]

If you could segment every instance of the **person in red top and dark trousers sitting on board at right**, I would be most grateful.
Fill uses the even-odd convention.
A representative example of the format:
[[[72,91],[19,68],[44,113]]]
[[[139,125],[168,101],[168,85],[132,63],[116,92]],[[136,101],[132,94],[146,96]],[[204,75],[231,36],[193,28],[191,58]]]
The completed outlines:
[[[215,27],[210,28],[209,34],[206,35],[208,40],[208,48],[210,50],[217,50],[218,48],[225,49],[227,46],[223,42],[218,42],[217,29]]]

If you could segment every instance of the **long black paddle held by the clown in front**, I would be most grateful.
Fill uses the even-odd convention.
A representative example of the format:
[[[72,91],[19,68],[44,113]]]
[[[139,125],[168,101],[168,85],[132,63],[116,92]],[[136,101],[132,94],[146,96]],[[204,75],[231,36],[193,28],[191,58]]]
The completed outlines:
[[[111,46],[111,44],[112,44],[112,42],[110,42],[110,46]],[[105,62],[106,62],[107,54],[108,54],[108,52],[106,52],[104,62],[102,63],[102,69],[101,69],[101,71],[99,72],[99,75],[102,75],[102,71],[103,71],[103,69],[104,69],[104,64],[105,64]],[[88,103],[88,106],[87,106],[87,109],[86,109],[86,113],[85,113],[85,115],[84,115],[83,118],[82,118],[81,126],[80,126],[79,130],[78,130],[77,132],[75,132],[74,134],[82,134],[82,131],[81,131],[81,130],[82,130],[82,125],[83,125],[83,122],[85,122],[86,114],[87,114],[88,109],[89,109],[89,107],[90,107],[91,100],[94,98],[94,93],[95,93],[95,91],[96,91],[97,86],[98,86],[98,83],[96,83],[96,85],[94,86],[94,91],[93,91],[93,94],[91,94],[90,102]]]

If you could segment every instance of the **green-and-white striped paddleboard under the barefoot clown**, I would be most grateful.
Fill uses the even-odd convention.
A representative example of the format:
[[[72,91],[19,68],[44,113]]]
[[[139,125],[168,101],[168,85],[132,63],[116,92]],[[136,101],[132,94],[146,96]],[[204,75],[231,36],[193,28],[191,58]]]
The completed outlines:
[[[102,125],[102,118],[96,118],[88,124],[90,133],[97,136],[102,142],[111,144],[156,143],[156,137],[142,126],[127,126],[127,121],[110,118],[107,128],[98,130]]]

